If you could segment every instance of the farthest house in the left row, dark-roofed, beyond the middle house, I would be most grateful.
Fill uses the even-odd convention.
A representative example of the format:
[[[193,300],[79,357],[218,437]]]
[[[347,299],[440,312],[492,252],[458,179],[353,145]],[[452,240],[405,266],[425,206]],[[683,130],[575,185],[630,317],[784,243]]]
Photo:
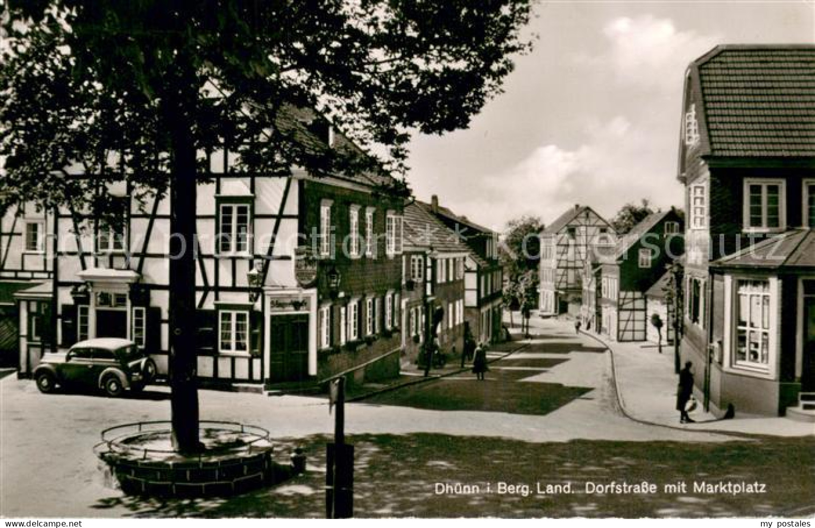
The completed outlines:
[[[498,234],[430,200],[430,213],[469,248],[465,259],[465,322],[476,341],[502,338],[504,275],[498,261]]]

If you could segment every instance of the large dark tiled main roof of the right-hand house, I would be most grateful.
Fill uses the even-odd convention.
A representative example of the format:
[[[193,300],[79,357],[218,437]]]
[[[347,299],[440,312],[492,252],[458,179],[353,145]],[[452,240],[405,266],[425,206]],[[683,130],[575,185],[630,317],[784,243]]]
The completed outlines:
[[[815,46],[717,46],[694,67],[712,155],[815,156]]]

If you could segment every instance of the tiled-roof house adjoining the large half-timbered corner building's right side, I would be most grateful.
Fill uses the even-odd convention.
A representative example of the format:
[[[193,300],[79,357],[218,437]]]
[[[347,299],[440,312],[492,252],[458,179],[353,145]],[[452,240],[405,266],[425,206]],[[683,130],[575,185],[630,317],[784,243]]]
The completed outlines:
[[[443,310],[438,345],[450,357],[464,350],[465,259],[468,247],[421,202],[404,209],[402,328],[405,360],[416,363],[434,311]]]

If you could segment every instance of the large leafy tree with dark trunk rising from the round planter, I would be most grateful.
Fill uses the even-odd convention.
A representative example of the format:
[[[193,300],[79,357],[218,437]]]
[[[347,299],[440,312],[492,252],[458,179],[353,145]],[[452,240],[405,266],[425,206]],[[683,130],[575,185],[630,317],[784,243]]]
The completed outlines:
[[[500,93],[530,0],[36,0],[8,6],[0,65],[4,204],[90,206],[121,222],[104,189],[169,194],[174,446],[197,451],[196,184],[199,152],[236,170],[404,174],[412,131],[465,127]],[[360,148],[311,141],[284,119],[315,111]],[[374,156],[370,147],[387,146]],[[108,163],[117,152],[117,165]],[[79,162],[81,177],[64,168]]]

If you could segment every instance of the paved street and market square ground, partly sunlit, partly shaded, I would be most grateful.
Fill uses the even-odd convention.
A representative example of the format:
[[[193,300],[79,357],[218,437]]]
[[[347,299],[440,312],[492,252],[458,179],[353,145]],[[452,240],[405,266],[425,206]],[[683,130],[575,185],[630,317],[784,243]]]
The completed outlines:
[[[808,507],[812,437],[766,438],[642,425],[619,411],[609,354],[564,324],[543,322],[520,350],[491,363],[486,381],[469,372],[349,404],[357,446],[361,516],[701,516],[769,515]],[[512,350],[518,343],[504,345]],[[496,350],[491,359],[505,352]],[[325,436],[333,418],[323,398],[201,391],[201,416],[269,429],[288,460],[306,448],[309,473],[229,500],[157,501],[104,488],[91,447],[111,425],[169,418],[165,388],[138,399],[43,395],[32,381],[0,381],[0,504],[4,516],[323,514]],[[66,434],[66,432],[70,434]],[[585,495],[584,482],[650,478],[734,482],[759,479],[765,495],[692,492]],[[571,495],[434,493],[436,482],[573,482]],[[689,484],[690,485],[690,484]],[[494,491],[494,490],[493,490]]]

